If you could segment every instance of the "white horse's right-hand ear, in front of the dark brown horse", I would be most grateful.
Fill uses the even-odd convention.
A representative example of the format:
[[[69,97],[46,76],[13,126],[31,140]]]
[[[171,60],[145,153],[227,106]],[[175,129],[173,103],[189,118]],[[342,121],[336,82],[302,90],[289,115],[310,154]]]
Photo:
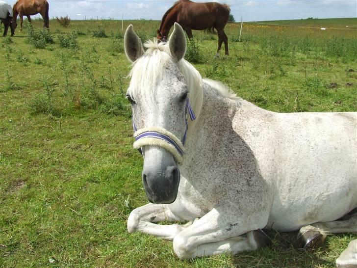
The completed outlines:
[[[180,60],[186,54],[186,36],[182,27],[175,23],[169,39],[169,48],[173,58]]]

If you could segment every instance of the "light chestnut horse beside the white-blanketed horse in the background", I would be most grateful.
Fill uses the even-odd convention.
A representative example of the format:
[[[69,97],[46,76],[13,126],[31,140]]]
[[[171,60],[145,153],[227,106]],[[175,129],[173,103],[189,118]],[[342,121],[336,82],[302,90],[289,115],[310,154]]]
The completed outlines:
[[[20,16],[20,31],[23,29],[23,17],[27,17],[29,23],[31,23],[30,15],[41,14],[44,25],[43,27],[49,28],[50,18],[49,18],[49,2],[47,0],[18,0],[14,7],[12,8],[15,22],[15,28],[17,27],[16,19]]]

